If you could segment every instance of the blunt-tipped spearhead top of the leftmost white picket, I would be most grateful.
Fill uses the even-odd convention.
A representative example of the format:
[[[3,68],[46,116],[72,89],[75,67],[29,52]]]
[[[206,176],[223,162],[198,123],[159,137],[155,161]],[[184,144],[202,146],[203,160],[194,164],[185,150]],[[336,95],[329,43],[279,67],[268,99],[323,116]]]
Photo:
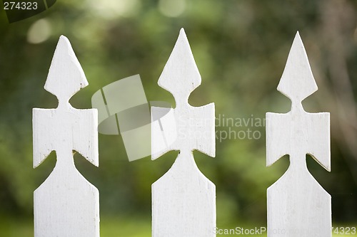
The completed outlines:
[[[66,36],[59,37],[44,85],[45,90],[56,95],[61,104],[61,102],[68,102],[74,94],[87,85],[86,75],[74,54],[71,43]]]

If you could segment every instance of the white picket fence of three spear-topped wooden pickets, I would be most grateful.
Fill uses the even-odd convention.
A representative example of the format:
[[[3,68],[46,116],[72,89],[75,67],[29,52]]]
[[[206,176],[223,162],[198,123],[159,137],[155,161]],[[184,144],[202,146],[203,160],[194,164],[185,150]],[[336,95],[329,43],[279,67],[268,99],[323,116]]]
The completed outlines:
[[[188,97],[201,84],[186,34],[181,29],[159,78],[176,107],[151,107],[152,159],[179,154],[171,169],[152,185],[152,236],[216,236],[216,186],[198,169],[193,149],[214,157],[214,104],[192,107]],[[77,110],[69,99],[88,85],[68,39],[61,36],[45,90],[56,95],[56,109],[34,109],[34,167],[56,151],[49,178],[34,191],[35,237],[98,237],[99,191],[74,166],[76,150],[99,165],[96,109]],[[288,171],[268,188],[268,236],[331,236],[331,196],[306,168],[306,154],[330,170],[329,114],[305,112],[301,101],[317,90],[298,33],[278,90],[291,99],[291,112],[266,114],[267,165],[290,155]],[[240,159],[239,154],[233,159]],[[155,164],[153,164],[155,165]],[[217,197],[219,199],[219,196]],[[149,233],[148,233],[149,236]]]

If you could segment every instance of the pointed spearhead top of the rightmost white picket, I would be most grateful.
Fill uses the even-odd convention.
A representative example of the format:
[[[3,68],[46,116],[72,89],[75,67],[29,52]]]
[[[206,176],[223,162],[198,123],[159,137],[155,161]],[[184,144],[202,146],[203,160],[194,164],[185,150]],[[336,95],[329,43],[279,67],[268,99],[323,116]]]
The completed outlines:
[[[278,85],[278,91],[286,95],[293,103],[300,103],[317,89],[303,41],[297,32]]]

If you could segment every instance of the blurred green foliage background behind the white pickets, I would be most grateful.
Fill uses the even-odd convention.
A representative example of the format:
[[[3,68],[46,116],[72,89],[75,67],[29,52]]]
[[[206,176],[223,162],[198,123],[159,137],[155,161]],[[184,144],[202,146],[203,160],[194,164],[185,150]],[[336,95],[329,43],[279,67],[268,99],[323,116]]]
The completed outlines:
[[[91,107],[97,90],[135,74],[149,101],[174,106],[157,80],[181,27],[202,76],[191,105],[215,102],[216,117],[241,121],[290,110],[276,87],[300,32],[319,88],[304,108],[331,112],[331,173],[311,157],[308,169],[332,196],[333,226],[357,227],[357,1],[58,0],[15,23],[0,10],[0,236],[33,236],[33,191],[56,162],[52,152],[32,168],[31,113],[57,105],[44,83],[59,36],[69,38],[89,81],[71,99],[74,107]],[[266,189],[286,171],[288,157],[266,167],[263,125],[217,120],[218,135],[229,130],[250,130],[256,139],[218,137],[214,159],[194,152],[216,184],[217,226],[266,226]],[[121,136],[99,135],[99,168],[75,155],[100,191],[101,236],[151,236],[151,184],[176,154],[129,162]]]

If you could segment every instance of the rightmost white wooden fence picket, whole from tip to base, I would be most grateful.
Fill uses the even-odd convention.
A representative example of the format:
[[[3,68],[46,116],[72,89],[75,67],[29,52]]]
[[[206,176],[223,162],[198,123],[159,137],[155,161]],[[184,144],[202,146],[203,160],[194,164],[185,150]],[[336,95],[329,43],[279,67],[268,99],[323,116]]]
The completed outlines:
[[[331,236],[331,196],[306,167],[311,154],[330,171],[330,114],[308,113],[301,105],[317,85],[298,33],[278,90],[291,99],[291,111],[266,113],[267,166],[285,154],[290,166],[267,191],[268,237]]]

